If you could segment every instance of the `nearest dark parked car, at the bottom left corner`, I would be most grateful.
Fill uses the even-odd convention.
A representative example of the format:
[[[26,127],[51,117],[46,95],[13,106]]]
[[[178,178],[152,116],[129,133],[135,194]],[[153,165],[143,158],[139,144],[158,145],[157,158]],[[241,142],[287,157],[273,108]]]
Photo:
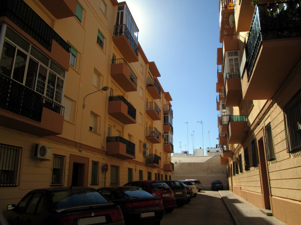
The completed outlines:
[[[27,193],[8,205],[10,225],[118,224],[121,208],[91,187],[51,187]]]

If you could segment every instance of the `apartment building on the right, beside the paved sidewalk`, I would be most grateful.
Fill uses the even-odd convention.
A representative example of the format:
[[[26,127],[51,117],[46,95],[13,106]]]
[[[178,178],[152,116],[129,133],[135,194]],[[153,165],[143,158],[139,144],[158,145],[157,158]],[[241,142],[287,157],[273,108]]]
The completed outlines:
[[[220,0],[219,13],[216,109],[230,190],[299,224],[300,1]]]

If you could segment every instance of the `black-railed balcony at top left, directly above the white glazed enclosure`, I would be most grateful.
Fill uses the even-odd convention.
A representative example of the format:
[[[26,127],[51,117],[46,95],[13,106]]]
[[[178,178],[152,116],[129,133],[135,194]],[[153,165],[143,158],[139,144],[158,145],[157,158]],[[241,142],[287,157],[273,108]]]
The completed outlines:
[[[60,64],[64,70],[69,70],[70,45],[24,1],[3,0],[0,1],[0,9],[0,17],[5,16],[14,22],[26,32],[27,39],[33,38],[36,44],[39,43],[48,50],[45,52],[46,55]]]

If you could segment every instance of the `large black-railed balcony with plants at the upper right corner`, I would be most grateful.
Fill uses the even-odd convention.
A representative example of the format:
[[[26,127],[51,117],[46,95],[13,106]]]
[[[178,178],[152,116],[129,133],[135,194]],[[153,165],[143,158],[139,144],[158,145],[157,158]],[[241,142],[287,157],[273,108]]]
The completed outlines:
[[[256,6],[245,48],[244,100],[271,99],[299,60],[300,8],[300,1]]]

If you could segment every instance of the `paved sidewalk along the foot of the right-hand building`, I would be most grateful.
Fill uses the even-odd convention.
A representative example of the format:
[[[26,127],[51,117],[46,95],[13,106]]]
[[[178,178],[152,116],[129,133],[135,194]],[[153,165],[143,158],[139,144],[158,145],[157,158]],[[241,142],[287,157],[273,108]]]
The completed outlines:
[[[273,216],[267,216],[255,205],[229,190],[219,191],[236,225],[287,225]]]

